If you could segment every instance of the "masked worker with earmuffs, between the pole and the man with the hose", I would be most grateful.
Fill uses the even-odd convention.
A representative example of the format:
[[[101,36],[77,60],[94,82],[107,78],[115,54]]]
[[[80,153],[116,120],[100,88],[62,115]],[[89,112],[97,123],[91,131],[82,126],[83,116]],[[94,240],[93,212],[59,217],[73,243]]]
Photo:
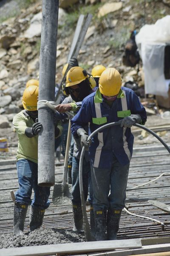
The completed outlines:
[[[76,114],[82,104],[82,100],[91,94],[92,89],[96,86],[96,82],[83,68],[74,67],[71,68],[66,76],[66,84],[64,86],[65,93],[70,94],[62,104],[56,106],[56,110],[60,113],[66,111],[74,111]],[[58,115],[58,112],[56,115]],[[88,125],[85,127],[88,132]],[[76,138],[74,142],[74,153],[72,159],[72,208],[74,217],[74,231],[81,231],[83,218],[82,218],[82,206],[81,197],[79,191],[79,158],[81,154],[80,139]],[[88,179],[91,173],[91,166],[89,162],[88,152],[85,153],[83,159],[83,189],[85,201],[88,197]],[[91,199],[89,199],[90,201]]]

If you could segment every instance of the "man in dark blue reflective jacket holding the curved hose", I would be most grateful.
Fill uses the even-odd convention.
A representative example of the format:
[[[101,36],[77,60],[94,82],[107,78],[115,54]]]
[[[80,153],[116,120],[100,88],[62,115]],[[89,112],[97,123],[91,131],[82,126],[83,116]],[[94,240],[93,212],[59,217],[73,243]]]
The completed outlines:
[[[130,127],[146,122],[146,111],[129,88],[121,87],[122,79],[115,68],[107,68],[99,79],[99,88],[85,100],[71,120],[71,131],[88,150],[93,165],[93,207],[97,241],[116,239],[119,220],[125,207],[127,177],[133,151]],[[121,125],[103,129],[88,141],[89,132],[111,122]],[[110,192],[110,195],[109,195]],[[107,226],[107,236],[106,236]]]

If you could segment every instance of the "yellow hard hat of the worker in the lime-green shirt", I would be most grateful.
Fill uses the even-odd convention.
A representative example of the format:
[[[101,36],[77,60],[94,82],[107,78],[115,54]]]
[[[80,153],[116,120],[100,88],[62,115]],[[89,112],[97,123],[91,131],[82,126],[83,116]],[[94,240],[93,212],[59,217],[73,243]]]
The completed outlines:
[[[23,107],[29,111],[37,110],[38,86],[30,85],[23,92]]]

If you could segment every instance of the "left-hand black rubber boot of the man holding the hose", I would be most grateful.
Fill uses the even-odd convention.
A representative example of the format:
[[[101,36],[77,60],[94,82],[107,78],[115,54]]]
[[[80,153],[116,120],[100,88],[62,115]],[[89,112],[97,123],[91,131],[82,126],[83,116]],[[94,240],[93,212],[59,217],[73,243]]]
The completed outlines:
[[[107,240],[106,238],[106,211],[94,212],[96,241]]]

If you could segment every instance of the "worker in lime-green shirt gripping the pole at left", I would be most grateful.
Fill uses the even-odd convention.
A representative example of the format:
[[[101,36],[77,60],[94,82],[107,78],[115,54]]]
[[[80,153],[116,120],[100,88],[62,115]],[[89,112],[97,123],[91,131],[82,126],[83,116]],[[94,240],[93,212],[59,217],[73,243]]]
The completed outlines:
[[[18,136],[17,173],[19,189],[15,193],[14,234],[23,235],[28,205],[30,206],[30,230],[42,225],[45,209],[50,201],[50,188],[37,184],[38,176],[38,133],[42,124],[38,122],[38,86],[30,85],[23,92],[23,108],[14,116],[13,125]],[[55,126],[55,136],[61,135],[62,126]],[[32,188],[34,199],[31,201]]]

